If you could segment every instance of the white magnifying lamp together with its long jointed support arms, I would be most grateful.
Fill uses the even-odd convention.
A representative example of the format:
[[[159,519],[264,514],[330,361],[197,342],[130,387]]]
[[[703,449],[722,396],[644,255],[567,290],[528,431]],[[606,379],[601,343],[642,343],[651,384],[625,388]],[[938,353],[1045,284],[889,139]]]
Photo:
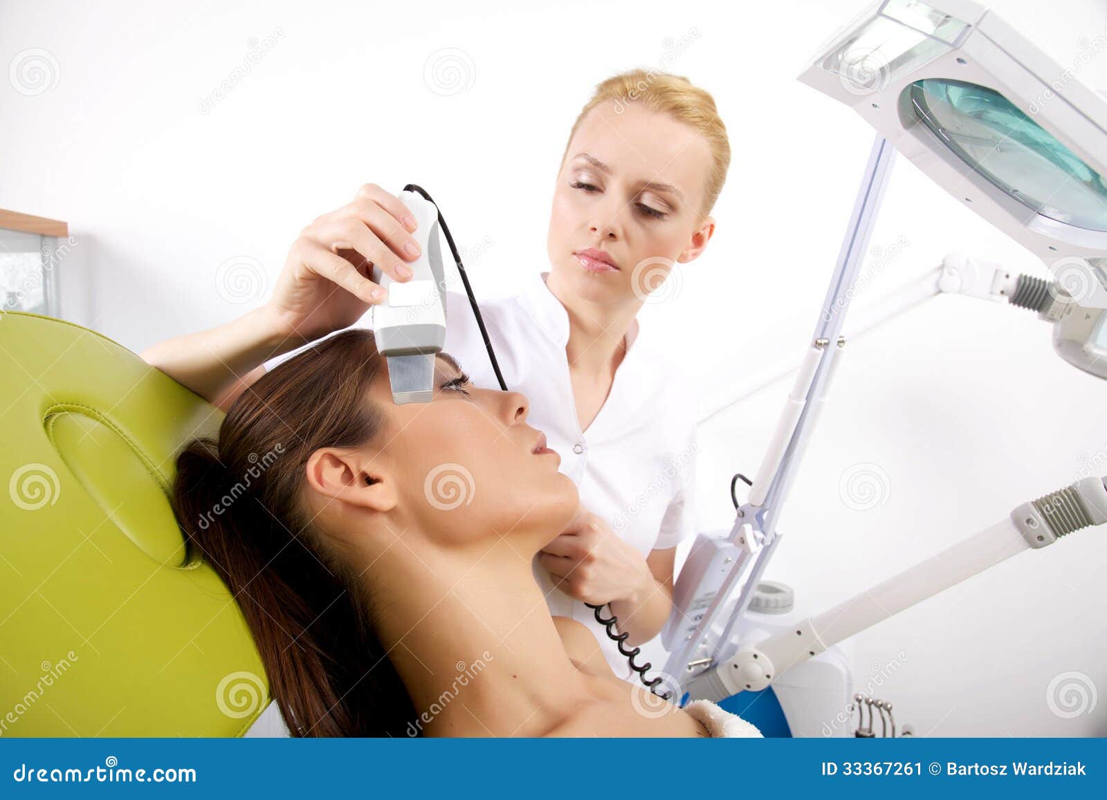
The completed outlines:
[[[1107,478],[1089,476],[1017,506],[825,615],[749,641],[743,617],[783,539],[779,515],[845,351],[851,287],[897,153],[1026,247],[1054,278],[969,270],[952,259],[935,291],[1006,297],[1038,312],[1054,322],[1066,360],[1107,377],[1107,100],[971,0],[882,0],[836,34],[800,80],[851,106],[877,135],[823,313],[748,498],[730,530],[696,537],[674,588],[675,612],[662,632],[671,651],[665,673],[690,697],[764,688],[1016,552],[1107,529]],[[913,295],[931,293],[923,289]]]

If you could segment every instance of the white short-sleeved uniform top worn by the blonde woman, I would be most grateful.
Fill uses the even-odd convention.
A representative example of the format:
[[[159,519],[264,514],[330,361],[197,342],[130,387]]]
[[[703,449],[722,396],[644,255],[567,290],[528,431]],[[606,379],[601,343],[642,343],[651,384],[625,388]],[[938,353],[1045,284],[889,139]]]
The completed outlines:
[[[674,548],[695,532],[695,397],[676,364],[641,346],[639,323],[627,334],[627,354],[607,401],[582,432],[565,351],[569,314],[546,287],[547,274],[536,273],[517,297],[478,301],[504,381],[527,396],[527,424],[545,432],[547,445],[561,456],[559,470],[577,484],[584,508],[643,555]],[[368,313],[356,324],[370,326],[371,320]],[[446,329],[444,350],[474,385],[498,389],[464,292],[447,292]],[[272,359],[266,367],[297,352]],[[550,612],[587,625],[615,675],[635,678],[592,610],[555,589],[537,559],[534,570]],[[643,663],[641,656],[635,661]],[[654,664],[649,675],[661,666]]]

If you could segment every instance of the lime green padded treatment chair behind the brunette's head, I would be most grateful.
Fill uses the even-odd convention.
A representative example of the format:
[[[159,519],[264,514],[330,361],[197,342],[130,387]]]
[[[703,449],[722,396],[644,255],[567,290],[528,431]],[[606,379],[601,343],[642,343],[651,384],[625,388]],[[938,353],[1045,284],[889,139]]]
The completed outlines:
[[[269,704],[167,493],[221,418],[94,331],[0,313],[0,737],[240,736]]]

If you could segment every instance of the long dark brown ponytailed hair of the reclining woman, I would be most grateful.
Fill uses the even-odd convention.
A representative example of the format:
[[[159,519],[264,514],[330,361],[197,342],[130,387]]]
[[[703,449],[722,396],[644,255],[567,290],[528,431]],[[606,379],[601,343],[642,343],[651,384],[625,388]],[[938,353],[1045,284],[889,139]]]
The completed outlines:
[[[371,331],[324,339],[242,392],[217,439],[177,457],[177,521],[237,600],[292,736],[397,735],[415,717],[364,580],[302,500],[314,450],[382,433],[369,398],[380,365]]]

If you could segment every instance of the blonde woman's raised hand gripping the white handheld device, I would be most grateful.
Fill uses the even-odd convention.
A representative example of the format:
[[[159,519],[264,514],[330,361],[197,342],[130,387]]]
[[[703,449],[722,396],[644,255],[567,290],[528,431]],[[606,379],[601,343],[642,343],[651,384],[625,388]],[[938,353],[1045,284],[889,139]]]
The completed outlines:
[[[266,312],[275,333],[311,342],[349,328],[385,290],[370,280],[373,264],[397,281],[418,258],[415,217],[400,198],[365,184],[354,199],[318,217],[289,249]]]

